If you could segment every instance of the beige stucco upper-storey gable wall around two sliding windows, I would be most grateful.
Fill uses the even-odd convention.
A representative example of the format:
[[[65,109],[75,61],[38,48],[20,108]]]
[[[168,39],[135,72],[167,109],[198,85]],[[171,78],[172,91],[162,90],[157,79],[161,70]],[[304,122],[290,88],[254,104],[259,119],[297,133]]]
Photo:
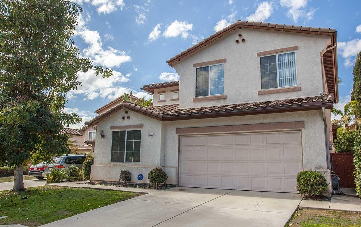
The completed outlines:
[[[235,43],[238,34],[245,42]],[[278,32],[242,28],[229,32],[195,53],[173,64],[180,77],[179,108],[213,106],[226,103],[254,102],[319,95],[323,91],[320,52],[329,36]],[[299,46],[296,52],[297,81],[301,91],[258,95],[261,88],[258,52]],[[226,58],[224,63],[227,99],[193,102],[195,97],[195,68],[193,63]]]

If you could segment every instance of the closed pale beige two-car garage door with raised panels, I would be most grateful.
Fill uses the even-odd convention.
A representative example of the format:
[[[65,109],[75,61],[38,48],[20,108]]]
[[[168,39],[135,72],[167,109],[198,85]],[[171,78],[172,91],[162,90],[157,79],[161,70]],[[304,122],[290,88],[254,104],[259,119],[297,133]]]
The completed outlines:
[[[297,192],[300,132],[181,136],[179,185]]]

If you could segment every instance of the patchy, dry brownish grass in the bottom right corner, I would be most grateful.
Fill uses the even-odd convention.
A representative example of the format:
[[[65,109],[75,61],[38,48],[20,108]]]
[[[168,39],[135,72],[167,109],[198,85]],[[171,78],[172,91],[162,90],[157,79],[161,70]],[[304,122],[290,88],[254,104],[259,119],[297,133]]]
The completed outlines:
[[[361,226],[361,212],[344,212],[338,210],[299,209],[293,214],[286,226],[330,227]]]

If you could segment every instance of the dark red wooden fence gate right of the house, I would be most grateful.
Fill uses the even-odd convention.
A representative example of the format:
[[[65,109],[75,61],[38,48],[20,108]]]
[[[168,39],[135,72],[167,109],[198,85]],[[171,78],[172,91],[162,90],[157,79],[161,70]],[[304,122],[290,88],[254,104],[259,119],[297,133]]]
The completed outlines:
[[[332,170],[340,178],[340,187],[355,188],[353,153],[330,153]]]

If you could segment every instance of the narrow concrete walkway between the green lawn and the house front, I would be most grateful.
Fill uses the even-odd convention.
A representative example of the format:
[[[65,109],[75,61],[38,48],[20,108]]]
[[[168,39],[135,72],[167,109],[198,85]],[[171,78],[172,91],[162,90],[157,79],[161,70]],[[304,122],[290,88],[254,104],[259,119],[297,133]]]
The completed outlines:
[[[96,188],[101,190],[116,190],[116,191],[127,191],[135,193],[151,193],[159,190],[148,189],[148,188],[133,188],[133,187],[117,187],[117,186],[105,186],[105,185],[94,185],[94,184],[82,184],[87,181],[75,181],[75,182],[61,182],[45,184],[45,186],[61,186],[61,187],[73,187],[73,188]]]

